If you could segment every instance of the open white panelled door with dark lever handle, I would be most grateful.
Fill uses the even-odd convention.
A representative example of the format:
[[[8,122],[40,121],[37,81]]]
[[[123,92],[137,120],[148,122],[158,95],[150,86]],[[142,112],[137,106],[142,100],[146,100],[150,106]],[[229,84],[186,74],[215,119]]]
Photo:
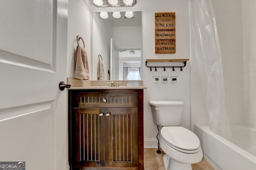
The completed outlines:
[[[68,0],[0,0],[0,164],[67,170]]]

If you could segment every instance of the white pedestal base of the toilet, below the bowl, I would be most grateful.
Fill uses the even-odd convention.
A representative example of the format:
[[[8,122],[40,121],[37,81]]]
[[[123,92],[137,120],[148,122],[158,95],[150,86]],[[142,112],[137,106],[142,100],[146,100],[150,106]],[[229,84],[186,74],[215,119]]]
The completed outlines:
[[[191,164],[178,162],[170,158],[167,154],[164,155],[163,160],[165,170],[192,170]]]

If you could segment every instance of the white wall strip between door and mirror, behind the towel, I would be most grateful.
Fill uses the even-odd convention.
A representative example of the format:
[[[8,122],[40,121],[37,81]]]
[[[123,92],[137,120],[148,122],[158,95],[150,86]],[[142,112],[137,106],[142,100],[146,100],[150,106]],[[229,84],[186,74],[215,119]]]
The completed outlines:
[[[84,39],[88,63],[92,63],[92,12],[91,4],[88,0],[68,1],[68,77],[75,77],[74,55],[77,46],[76,35]],[[82,40],[79,41],[83,46]],[[92,79],[92,65],[90,67],[90,79]]]

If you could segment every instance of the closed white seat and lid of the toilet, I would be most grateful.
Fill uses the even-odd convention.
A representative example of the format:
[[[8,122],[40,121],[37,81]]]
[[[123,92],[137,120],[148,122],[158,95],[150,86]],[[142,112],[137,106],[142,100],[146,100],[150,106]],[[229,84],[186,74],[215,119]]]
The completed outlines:
[[[200,141],[192,131],[180,126],[162,127],[161,138],[166,145],[184,153],[196,153],[200,150]]]

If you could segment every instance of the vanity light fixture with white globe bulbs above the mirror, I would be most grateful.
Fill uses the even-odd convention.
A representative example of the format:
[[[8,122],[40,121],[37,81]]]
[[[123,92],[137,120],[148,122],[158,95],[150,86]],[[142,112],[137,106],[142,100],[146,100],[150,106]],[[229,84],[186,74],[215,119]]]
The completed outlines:
[[[136,0],[93,0],[96,7],[131,7],[136,4]]]

